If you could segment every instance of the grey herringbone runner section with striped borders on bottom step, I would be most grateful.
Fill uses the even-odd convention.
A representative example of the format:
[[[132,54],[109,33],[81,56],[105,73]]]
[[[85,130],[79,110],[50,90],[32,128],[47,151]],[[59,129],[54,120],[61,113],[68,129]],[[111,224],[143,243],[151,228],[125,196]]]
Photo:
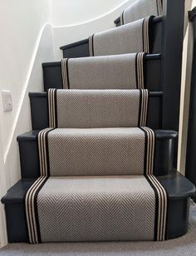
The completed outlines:
[[[32,244],[163,241],[167,195],[154,175],[41,177],[27,192],[26,214]]]

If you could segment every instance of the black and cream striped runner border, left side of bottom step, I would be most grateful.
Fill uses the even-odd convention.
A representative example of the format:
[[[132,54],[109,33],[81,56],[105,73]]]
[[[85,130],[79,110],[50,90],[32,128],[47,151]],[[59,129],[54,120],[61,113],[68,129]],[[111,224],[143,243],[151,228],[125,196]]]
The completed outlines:
[[[38,244],[41,242],[39,229],[39,219],[37,213],[37,195],[42,186],[47,182],[48,177],[41,176],[38,178],[25,196],[25,211],[27,219],[27,230],[29,243]]]

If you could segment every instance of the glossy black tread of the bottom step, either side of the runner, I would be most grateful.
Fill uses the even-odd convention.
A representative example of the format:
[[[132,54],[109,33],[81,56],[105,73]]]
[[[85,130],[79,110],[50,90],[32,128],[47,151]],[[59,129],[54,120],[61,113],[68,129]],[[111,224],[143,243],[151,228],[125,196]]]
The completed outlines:
[[[89,178],[90,177],[90,178]],[[107,179],[112,180],[117,176],[107,176]],[[120,176],[118,176],[120,177]],[[124,177],[125,176],[121,176]],[[86,176],[76,177],[72,176],[74,179],[87,179]],[[103,179],[103,176],[88,176],[88,179]],[[105,178],[105,177],[104,177]],[[174,171],[170,175],[157,176],[159,182],[164,185],[165,190],[167,190],[169,199],[184,199],[189,198],[195,194],[194,185],[186,179],[183,175],[179,174],[178,171]],[[67,177],[66,179],[71,179]],[[123,178],[122,178],[123,179]],[[36,179],[22,179],[13,185],[10,190],[7,191],[7,194],[2,198],[3,204],[13,204],[13,203],[22,203],[27,190],[33,184]]]

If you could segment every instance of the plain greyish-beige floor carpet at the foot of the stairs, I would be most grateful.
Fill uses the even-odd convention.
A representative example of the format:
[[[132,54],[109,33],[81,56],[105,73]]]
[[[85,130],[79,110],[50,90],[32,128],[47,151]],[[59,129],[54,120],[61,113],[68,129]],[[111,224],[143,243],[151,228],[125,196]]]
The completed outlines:
[[[196,204],[191,205],[189,233],[179,239],[166,242],[8,244],[0,249],[0,255],[196,256]]]

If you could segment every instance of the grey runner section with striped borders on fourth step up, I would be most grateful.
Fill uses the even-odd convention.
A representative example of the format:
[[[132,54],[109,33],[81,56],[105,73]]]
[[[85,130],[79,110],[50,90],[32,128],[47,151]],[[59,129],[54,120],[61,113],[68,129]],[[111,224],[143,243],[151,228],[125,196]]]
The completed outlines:
[[[64,89],[144,89],[144,53],[61,60]]]

